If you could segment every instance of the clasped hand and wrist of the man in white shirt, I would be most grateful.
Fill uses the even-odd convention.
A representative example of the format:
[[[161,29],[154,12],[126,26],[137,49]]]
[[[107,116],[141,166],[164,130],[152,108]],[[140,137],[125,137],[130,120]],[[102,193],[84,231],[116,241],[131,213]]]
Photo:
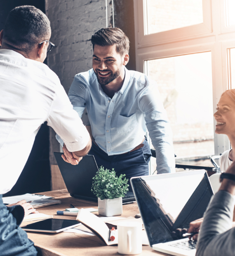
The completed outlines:
[[[69,152],[66,145],[63,145],[63,155],[62,158],[64,161],[67,163],[76,165],[82,160],[82,156],[85,156],[88,154],[92,147],[92,140],[89,139],[89,142],[87,143],[87,146],[80,150],[80,151],[75,151],[75,152]]]

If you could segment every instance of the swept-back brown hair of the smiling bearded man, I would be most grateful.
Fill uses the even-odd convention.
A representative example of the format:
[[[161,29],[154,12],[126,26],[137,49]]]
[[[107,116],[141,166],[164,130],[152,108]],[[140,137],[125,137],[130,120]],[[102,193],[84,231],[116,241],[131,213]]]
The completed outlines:
[[[120,55],[129,53],[130,41],[120,28],[101,28],[92,35],[93,50],[95,45],[110,46],[116,45]]]

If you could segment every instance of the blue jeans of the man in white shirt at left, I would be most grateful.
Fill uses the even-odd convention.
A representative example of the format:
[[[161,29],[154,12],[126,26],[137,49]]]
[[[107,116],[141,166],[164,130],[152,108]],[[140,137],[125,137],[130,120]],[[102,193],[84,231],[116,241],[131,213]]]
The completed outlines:
[[[19,225],[24,217],[20,205],[7,207],[0,195],[0,255],[1,256],[36,256],[33,242]]]

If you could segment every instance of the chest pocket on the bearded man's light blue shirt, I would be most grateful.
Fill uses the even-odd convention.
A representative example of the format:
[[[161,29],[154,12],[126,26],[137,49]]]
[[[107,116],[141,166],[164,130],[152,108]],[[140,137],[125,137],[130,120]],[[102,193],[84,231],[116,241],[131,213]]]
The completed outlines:
[[[136,113],[131,116],[118,116],[117,133],[127,133],[136,128]]]

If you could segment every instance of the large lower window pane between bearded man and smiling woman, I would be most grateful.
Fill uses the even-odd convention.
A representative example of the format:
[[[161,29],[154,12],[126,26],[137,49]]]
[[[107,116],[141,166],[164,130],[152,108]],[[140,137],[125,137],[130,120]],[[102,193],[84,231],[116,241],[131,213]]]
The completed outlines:
[[[153,59],[145,64],[148,76],[158,84],[167,111],[176,163],[212,166],[209,161],[214,155],[211,52]]]

